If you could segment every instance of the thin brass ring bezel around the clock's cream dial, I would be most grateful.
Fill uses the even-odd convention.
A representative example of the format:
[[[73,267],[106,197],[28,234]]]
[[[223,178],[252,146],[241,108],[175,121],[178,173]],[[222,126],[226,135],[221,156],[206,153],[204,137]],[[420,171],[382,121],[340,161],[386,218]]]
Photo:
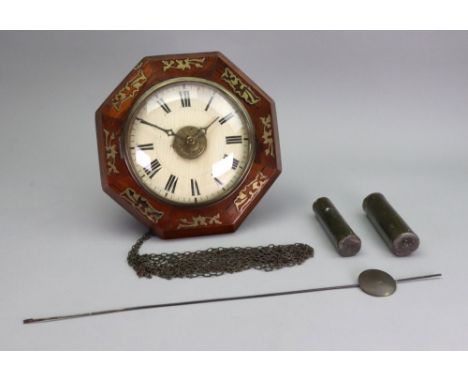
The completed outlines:
[[[129,140],[129,132],[132,126],[132,123],[135,120],[136,114],[140,110],[142,104],[145,102],[145,100],[148,99],[153,93],[156,91],[181,82],[198,82],[202,84],[206,84],[208,86],[212,86],[213,88],[219,90],[221,93],[223,93],[225,96],[227,96],[242,112],[242,119],[246,123],[247,131],[248,131],[248,136],[249,136],[249,159],[248,162],[245,165],[245,168],[243,170],[242,175],[236,180],[236,182],[230,186],[229,189],[227,189],[225,192],[220,194],[218,197],[206,200],[203,202],[194,202],[194,203],[183,203],[183,202],[177,202],[174,200],[166,199],[162,197],[161,195],[158,195],[155,193],[147,184],[145,184],[139,174],[136,172],[136,169],[133,165],[133,161],[131,158],[131,152],[130,152],[130,145],[127,144]],[[148,90],[146,90],[143,94],[138,96],[138,98],[135,100],[135,103],[133,104],[132,108],[130,109],[130,112],[128,114],[128,117],[125,121],[125,124],[122,129],[122,139],[120,139],[120,150],[121,153],[123,154],[123,159],[125,161],[125,164],[130,172],[130,175],[132,178],[137,182],[142,188],[144,188],[149,194],[151,194],[154,198],[158,199],[161,203],[166,203],[169,205],[177,206],[180,208],[198,208],[198,207],[206,207],[210,206],[212,204],[218,203],[228,197],[230,197],[236,190],[239,188],[239,186],[243,183],[245,180],[245,177],[247,174],[250,172],[252,163],[255,159],[255,150],[256,150],[256,140],[255,140],[255,127],[252,122],[252,119],[250,117],[249,112],[245,108],[245,106],[240,102],[240,100],[232,94],[228,89],[222,87],[218,83],[214,81],[207,80],[205,78],[201,77],[195,77],[195,76],[190,76],[190,77],[177,77],[177,78],[171,78],[167,80],[163,80],[159,83],[156,83],[152,85]]]

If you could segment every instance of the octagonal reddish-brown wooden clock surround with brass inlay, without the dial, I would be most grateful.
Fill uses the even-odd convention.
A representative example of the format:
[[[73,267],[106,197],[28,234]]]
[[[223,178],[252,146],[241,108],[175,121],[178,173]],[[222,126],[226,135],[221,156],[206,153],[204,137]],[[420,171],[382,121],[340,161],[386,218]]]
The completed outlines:
[[[207,205],[173,205],[157,198],[134,178],[125,161],[123,133],[139,98],[158,83],[192,77],[232,94],[253,123],[255,152],[242,181],[223,199]],[[281,172],[273,100],[219,52],[143,58],[96,111],[103,190],[161,238],[235,231]]]

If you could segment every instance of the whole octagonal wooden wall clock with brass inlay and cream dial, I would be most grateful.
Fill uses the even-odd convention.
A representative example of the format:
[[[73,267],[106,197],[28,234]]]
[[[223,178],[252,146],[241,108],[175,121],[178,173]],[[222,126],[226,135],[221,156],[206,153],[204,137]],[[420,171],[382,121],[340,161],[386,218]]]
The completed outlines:
[[[234,231],[281,172],[273,100],[218,52],[143,58],[96,131],[104,191],[162,238]]]

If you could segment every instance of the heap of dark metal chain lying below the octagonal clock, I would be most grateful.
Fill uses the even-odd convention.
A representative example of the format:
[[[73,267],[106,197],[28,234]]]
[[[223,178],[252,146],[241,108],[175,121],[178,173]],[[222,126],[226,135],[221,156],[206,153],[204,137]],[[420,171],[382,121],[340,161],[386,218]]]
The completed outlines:
[[[199,251],[151,253],[140,255],[143,243],[152,236],[148,231],[128,253],[128,264],[139,277],[172,278],[213,277],[247,269],[273,271],[300,265],[313,257],[307,244],[267,245],[263,247],[217,247]]]

